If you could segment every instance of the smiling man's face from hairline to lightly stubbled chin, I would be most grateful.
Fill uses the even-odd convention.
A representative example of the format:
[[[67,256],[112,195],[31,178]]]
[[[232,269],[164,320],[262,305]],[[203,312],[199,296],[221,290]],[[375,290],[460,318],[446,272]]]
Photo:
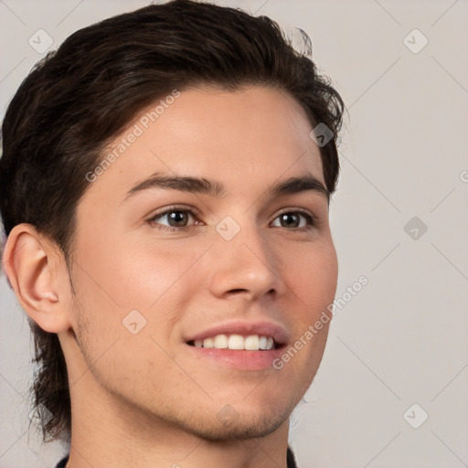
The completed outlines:
[[[311,124],[292,97],[261,87],[184,90],[148,128],[145,112],[111,147],[135,123],[143,133],[78,207],[70,265],[77,343],[60,336],[72,399],[111,399],[127,419],[209,439],[266,435],[310,386],[328,324],[281,369],[272,362],[335,296],[324,193],[297,184],[271,193],[291,177],[324,185]],[[224,195],[194,191],[190,181],[144,183],[156,174],[203,178]],[[204,338],[225,346],[219,335],[253,348],[271,346],[261,336],[272,336],[281,347],[198,347]]]

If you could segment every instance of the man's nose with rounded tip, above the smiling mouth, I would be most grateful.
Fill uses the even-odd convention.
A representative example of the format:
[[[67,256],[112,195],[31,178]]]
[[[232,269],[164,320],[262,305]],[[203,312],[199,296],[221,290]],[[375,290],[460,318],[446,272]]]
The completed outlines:
[[[217,234],[218,236],[218,234]],[[279,258],[256,226],[242,226],[230,240],[218,236],[212,249],[211,291],[219,298],[245,296],[250,302],[263,295],[282,295]]]

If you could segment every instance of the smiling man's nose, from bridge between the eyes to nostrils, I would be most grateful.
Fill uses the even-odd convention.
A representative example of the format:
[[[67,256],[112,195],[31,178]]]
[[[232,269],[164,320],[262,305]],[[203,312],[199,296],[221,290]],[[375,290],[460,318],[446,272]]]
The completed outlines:
[[[249,292],[252,297],[271,290],[282,292],[277,259],[270,249],[261,229],[249,214],[222,219],[217,227],[218,239],[215,271],[212,277],[213,292]]]

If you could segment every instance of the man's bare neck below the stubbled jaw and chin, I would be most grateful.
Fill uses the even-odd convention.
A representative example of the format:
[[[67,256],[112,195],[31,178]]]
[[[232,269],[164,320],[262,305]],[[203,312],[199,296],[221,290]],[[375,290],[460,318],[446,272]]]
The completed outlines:
[[[289,420],[263,437],[207,440],[112,396],[93,380],[91,372],[70,388],[70,397],[72,428],[68,467],[287,466]]]

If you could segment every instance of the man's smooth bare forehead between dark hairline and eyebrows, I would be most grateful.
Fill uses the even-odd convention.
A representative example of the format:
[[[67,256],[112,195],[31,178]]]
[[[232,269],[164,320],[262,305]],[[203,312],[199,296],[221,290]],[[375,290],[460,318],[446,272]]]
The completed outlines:
[[[124,197],[155,172],[199,176],[236,190],[303,173],[324,181],[301,105],[270,87],[172,92],[139,112],[103,152],[90,196]],[[113,155],[109,157],[109,155]]]

